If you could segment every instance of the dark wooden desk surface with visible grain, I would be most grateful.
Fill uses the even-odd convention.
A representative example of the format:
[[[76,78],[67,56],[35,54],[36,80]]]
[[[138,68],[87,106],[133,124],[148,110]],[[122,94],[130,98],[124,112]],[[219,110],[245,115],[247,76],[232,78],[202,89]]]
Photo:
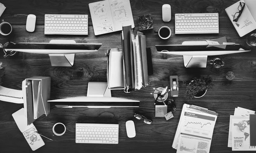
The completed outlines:
[[[25,78],[32,76],[51,77],[51,99],[81,96],[87,93],[89,81],[107,81],[107,49],[121,47],[120,32],[95,36],[91,22],[88,4],[94,0],[0,0],[6,10],[0,19],[12,24],[13,32],[10,37],[12,42],[49,42],[52,39],[72,39],[78,43],[102,43],[101,48],[95,53],[76,55],[72,67],[52,67],[48,55],[35,55],[17,53],[13,57],[3,58],[0,52],[0,61],[6,68],[3,78],[4,87],[21,89]],[[147,47],[151,48],[154,74],[150,75],[151,85],[129,94],[122,90],[112,91],[113,97],[124,97],[140,100],[139,108],[110,108],[110,109],[58,109],[51,107],[50,114],[38,118],[34,124],[38,131],[53,139],[44,139],[45,145],[37,153],[173,153],[172,142],[180,118],[180,109],[186,102],[184,93],[186,84],[195,76],[212,75],[215,86],[207,91],[203,98],[193,99],[189,104],[207,107],[218,113],[210,153],[227,153],[232,148],[227,147],[229,118],[233,115],[235,107],[244,107],[256,110],[256,48],[251,47],[251,52],[209,56],[207,68],[186,69],[182,56],[157,54],[156,44],[180,44],[183,41],[210,40],[226,36],[228,42],[236,42],[246,46],[246,36],[240,38],[230,22],[225,9],[236,3],[237,0],[131,0],[134,17],[134,32],[139,29],[137,16],[151,13],[154,19],[154,30],[160,26],[169,26],[172,36],[166,41],[161,40],[154,30],[145,31]],[[169,3],[172,6],[172,20],[168,23],[162,20],[162,5]],[[219,13],[219,34],[210,35],[175,35],[175,13]],[[35,14],[35,32],[26,31],[26,17]],[[88,36],[55,36],[44,35],[44,14],[88,14]],[[254,31],[255,33],[256,31]],[[7,37],[1,35],[0,43],[6,43]],[[213,68],[209,60],[221,58],[225,66]],[[233,71],[236,78],[227,81],[225,73]],[[173,112],[174,118],[166,121],[165,118],[155,118],[154,98],[150,95],[152,87],[170,87],[169,76],[179,77],[179,97],[175,98],[177,111]],[[169,98],[171,96],[169,95]],[[0,101],[0,153],[33,152],[22,133],[12,118],[12,113],[23,107],[23,104],[12,104]],[[143,124],[133,117],[137,112],[153,120],[151,125]],[[128,138],[125,130],[125,121],[133,120],[136,126],[136,137]],[[52,136],[52,126],[56,122],[66,125],[64,136]],[[119,144],[76,144],[76,123],[106,123],[119,124]]]

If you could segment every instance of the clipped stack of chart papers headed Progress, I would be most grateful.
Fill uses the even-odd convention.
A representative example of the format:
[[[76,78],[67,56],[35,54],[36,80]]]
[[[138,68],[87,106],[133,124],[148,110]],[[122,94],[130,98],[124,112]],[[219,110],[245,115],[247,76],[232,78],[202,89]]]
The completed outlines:
[[[177,153],[209,153],[218,113],[184,104],[172,147]]]

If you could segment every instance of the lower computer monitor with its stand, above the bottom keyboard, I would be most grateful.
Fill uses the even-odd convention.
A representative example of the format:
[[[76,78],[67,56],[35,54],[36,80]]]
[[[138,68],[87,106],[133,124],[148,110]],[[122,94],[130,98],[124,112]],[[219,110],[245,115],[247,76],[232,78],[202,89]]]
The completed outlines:
[[[111,97],[107,82],[89,82],[87,96],[70,97],[49,100],[56,107],[73,108],[110,108],[110,107],[139,107],[140,101],[126,98]]]

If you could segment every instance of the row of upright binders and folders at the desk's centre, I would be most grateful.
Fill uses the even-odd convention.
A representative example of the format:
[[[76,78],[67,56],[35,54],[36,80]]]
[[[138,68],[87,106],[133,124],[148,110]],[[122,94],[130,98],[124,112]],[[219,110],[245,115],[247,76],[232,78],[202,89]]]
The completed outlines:
[[[119,52],[119,49],[110,49],[107,52],[108,88],[131,92],[150,84],[146,37],[142,32],[134,34],[131,26],[123,26],[122,29],[122,50]]]

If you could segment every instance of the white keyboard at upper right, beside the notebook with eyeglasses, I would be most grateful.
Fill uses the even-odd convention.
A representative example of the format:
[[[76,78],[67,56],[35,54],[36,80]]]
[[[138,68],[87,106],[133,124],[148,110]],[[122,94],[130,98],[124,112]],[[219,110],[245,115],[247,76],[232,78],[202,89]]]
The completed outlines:
[[[218,13],[175,14],[175,34],[218,33]]]

